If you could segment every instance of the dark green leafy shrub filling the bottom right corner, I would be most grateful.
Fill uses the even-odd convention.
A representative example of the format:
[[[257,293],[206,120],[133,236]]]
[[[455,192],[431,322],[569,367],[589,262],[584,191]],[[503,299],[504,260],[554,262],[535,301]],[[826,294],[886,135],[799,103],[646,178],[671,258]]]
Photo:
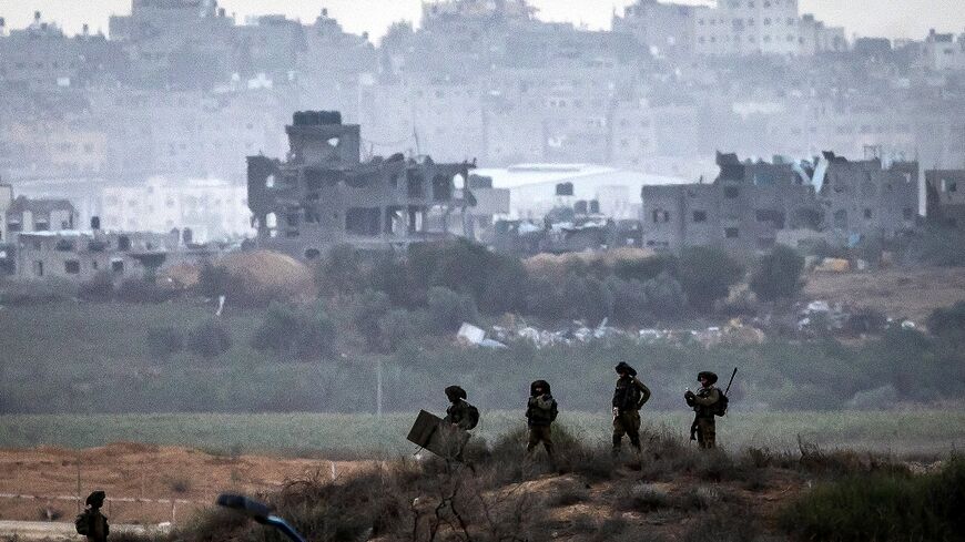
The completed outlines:
[[[953,458],[923,475],[880,472],[849,475],[806,492],[780,514],[801,540],[962,540],[965,460]]]

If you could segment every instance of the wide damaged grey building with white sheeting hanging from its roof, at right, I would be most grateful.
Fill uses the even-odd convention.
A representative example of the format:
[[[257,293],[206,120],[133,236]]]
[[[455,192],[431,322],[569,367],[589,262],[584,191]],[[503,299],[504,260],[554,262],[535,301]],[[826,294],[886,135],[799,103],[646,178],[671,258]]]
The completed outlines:
[[[741,162],[720,154],[712,183],[644,186],[643,245],[678,252],[712,245],[768,250],[782,243],[854,244],[915,226],[918,165],[851,162],[823,153],[813,162]]]

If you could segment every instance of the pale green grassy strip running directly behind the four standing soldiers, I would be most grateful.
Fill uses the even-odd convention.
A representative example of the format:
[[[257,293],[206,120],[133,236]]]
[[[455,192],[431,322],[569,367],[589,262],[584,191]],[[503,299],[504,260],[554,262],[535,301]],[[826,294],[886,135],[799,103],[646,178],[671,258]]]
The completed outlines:
[[[685,436],[685,412],[644,411],[644,423]],[[41,444],[83,448],[114,441],[240,451],[336,457],[396,456],[416,451],[405,440],[413,413],[369,415],[50,415],[0,417],[0,447]],[[609,440],[606,413],[563,412],[560,422],[589,442]],[[522,425],[518,412],[484,412],[477,434],[494,441]],[[793,449],[801,436],[826,447],[850,447],[895,453],[948,452],[965,444],[963,411],[894,412],[731,412],[718,425],[723,446]]]

